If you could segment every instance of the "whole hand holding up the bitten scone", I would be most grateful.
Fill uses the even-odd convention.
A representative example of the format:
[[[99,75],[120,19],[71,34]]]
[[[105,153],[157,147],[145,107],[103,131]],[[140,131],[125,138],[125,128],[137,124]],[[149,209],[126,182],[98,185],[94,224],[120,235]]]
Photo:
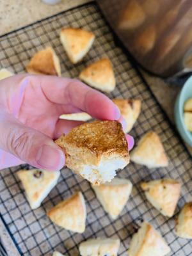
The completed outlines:
[[[0,81],[0,169],[22,163],[60,170],[63,151],[52,139],[82,122],[60,120],[85,111],[101,120],[124,120],[104,94],[75,79],[17,75]],[[133,138],[127,136],[129,149]]]

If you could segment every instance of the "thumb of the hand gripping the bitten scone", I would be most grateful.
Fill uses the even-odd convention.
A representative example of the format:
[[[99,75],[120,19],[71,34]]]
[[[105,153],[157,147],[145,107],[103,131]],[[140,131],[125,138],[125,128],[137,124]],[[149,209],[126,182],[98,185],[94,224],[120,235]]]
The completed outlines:
[[[7,114],[0,117],[0,148],[36,168],[60,170],[65,164],[63,151],[51,138]]]

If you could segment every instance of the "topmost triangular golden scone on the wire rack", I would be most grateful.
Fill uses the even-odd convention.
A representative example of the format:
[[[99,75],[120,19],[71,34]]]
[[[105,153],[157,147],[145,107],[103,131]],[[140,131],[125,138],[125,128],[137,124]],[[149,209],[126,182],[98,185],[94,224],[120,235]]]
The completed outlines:
[[[94,39],[92,32],[80,28],[63,28],[60,33],[61,44],[74,64],[81,61],[90,51]]]

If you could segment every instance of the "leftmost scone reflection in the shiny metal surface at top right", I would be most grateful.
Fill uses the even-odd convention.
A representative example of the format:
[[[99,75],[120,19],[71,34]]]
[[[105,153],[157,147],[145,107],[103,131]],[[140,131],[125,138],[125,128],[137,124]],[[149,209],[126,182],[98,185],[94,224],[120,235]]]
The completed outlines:
[[[131,0],[120,13],[118,28],[136,29],[145,21],[145,18],[141,5],[136,0]]]

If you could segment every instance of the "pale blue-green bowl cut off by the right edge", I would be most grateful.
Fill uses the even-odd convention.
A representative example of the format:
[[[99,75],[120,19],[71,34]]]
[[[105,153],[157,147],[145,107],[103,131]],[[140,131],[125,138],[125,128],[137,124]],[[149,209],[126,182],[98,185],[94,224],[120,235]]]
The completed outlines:
[[[192,132],[184,124],[184,103],[192,98],[192,76],[186,81],[175,102],[175,123],[180,136],[192,147]]]

